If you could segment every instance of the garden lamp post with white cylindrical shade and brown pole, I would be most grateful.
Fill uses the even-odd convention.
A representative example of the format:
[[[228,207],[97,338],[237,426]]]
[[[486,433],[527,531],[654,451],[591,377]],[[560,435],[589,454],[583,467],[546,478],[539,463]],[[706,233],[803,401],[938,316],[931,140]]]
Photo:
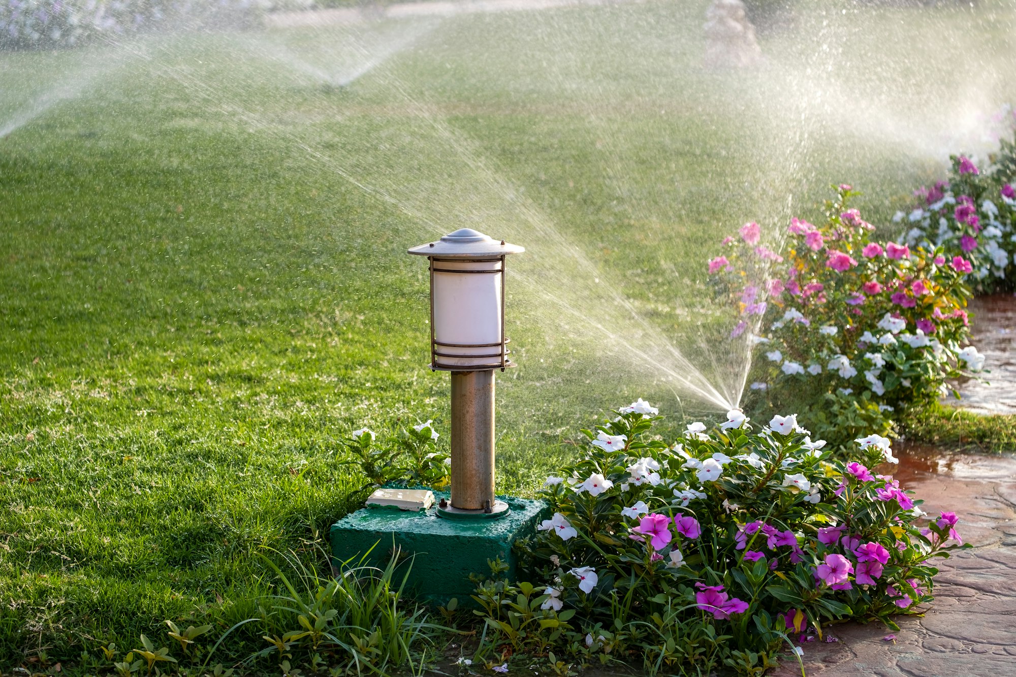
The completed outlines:
[[[451,503],[438,514],[508,513],[494,495],[494,371],[514,366],[505,338],[505,257],[525,251],[469,228],[409,249],[431,272],[432,370],[451,372]]]

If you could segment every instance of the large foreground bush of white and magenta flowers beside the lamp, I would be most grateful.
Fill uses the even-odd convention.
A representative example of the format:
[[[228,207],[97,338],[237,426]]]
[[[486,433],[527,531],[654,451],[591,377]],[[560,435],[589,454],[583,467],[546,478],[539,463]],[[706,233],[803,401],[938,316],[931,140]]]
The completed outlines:
[[[892,614],[933,599],[932,558],[962,544],[956,518],[918,527],[920,501],[877,470],[896,460],[888,439],[833,460],[795,416],[753,432],[733,411],[669,444],[651,434],[656,413],[641,401],[619,410],[548,478],[554,515],[519,546],[524,595],[503,599],[500,581],[475,598],[495,643],[520,653],[529,622],[542,653],[760,675],[781,643],[826,637],[832,620],[895,627]]]

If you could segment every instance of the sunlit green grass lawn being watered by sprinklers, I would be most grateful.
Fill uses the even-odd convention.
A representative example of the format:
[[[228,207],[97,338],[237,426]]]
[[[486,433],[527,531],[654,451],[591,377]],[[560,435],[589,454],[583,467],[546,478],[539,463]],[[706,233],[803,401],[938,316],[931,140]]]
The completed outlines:
[[[531,494],[606,409],[718,412],[665,344],[734,383],[701,294],[723,235],[840,181],[888,223],[1016,100],[1001,4],[809,15],[749,73],[701,67],[706,4],[0,55],[0,124],[55,101],[0,138],[0,667],[168,618],[221,631],[272,580],[259,553],[356,507],[337,440],[447,430],[407,247],[463,226],[527,247],[498,482]]]

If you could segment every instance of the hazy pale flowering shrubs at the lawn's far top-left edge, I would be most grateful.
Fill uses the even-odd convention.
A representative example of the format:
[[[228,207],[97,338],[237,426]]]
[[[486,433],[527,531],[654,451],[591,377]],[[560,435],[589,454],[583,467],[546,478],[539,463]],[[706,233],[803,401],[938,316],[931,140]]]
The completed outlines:
[[[246,25],[269,3],[257,0],[8,0],[0,3],[0,50],[72,47],[180,23]]]

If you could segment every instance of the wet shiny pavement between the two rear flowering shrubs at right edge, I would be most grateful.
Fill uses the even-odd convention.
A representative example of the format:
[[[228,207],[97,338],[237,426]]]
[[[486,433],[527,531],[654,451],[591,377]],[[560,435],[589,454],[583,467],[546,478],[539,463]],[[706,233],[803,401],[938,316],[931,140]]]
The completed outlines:
[[[989,383],[967,379],[959,384],[960,401],[950,394],[944,402],[978,414],[1016,414],[1016,296],[979,296],[969,310],[970,343],[986,357]]]

